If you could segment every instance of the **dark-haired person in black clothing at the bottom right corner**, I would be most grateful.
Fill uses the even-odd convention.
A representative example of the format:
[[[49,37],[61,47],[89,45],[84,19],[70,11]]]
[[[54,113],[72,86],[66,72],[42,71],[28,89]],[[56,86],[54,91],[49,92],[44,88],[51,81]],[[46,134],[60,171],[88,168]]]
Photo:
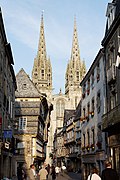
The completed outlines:
[[[107,161],[105,163],[106,169],[102,171],[102,180],[119,180],[117,171],[112,169],[112,163]]]

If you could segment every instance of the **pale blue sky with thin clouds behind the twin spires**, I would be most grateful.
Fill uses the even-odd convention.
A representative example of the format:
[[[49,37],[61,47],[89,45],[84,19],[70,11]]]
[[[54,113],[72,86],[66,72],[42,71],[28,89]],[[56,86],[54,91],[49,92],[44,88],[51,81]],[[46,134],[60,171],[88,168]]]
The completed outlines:
[[[110,0],[0,0],[7,41],[11,44],[15,74],[21,68],[30,76],[37,55],[41,15],[47,57],[53,73],[53,93],[64,93],[65,73],[71,56],[76,17],[81,60],[87,70],[94,61],[105,34]]]

